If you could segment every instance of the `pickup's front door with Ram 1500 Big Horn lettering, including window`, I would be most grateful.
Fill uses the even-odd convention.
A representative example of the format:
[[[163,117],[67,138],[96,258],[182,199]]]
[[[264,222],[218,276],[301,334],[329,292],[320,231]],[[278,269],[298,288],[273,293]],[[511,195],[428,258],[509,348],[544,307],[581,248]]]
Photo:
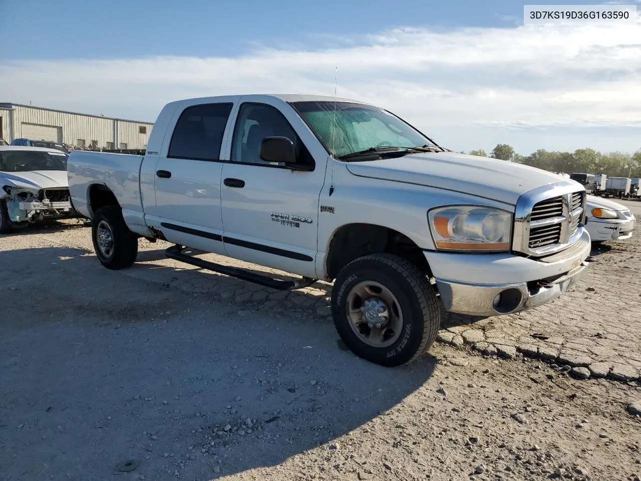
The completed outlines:
[[[265,162],[260,158],[260,144],[272,136],[288,137],[297,155],[314,163],[292,123],[278,108],[242,103],[230,160],[222,166],[225,249],[230,257],[313,277],[325,165],[316,165],[313,171],[292,171]]]

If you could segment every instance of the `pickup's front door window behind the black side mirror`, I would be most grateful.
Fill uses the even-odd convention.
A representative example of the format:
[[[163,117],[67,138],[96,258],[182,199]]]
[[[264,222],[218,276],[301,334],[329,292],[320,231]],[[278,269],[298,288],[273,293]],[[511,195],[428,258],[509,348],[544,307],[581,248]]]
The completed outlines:
[[[231,162],[278,165],[260,158],[260,144],[265,137],[287,137],[294,142],[303,162],[313,165],[313,158],[285,116],[271,105],[244,103],[240,106],[233,140]]]

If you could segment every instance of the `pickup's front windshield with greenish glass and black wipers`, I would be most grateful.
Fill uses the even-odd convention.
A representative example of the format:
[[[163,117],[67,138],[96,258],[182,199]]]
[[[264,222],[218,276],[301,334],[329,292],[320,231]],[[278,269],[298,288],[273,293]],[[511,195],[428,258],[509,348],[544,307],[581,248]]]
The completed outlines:
[[[292,106],[329,153],[338,158],[372,148],[436,147],[428,137],[382,108],[333,101],[293,102]]]

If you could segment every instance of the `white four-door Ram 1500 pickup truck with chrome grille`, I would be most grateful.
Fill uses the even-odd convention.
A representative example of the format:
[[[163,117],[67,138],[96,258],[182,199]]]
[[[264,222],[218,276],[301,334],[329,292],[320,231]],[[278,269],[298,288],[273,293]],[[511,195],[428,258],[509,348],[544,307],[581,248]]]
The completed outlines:
[[[274,289],[333,281],[338,333],[385,366],[429,348],[439,298],[450,312],[518,312],[558,298],[590,260],[578,183],[453,152],[387,110],[333,97],[169,103],[144,156],[72,151],[69,189],[105,267],[131,266],[146,237],[175,244],[168,257]]]

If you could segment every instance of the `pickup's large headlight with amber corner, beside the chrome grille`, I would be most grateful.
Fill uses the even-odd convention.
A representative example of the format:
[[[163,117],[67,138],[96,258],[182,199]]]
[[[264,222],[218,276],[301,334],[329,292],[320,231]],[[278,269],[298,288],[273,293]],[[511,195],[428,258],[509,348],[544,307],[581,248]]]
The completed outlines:
[[[438,250],[509,251],[512,213],[493,207],[456,205],[428,212]]]

